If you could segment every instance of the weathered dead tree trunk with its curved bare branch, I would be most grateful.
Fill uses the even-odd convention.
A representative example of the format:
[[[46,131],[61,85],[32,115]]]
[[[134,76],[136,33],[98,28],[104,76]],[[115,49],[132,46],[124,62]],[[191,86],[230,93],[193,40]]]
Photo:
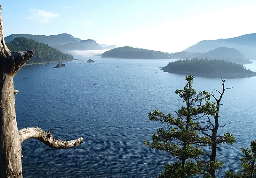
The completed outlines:
[[[0,10],[2,7],[0,6]],[[18,131],[13,77],[31,58],[34,51],[10,52],[4,42],[3,20],[0,11],[0,177],[22,178],[21,143],[36,138],[53,148],[71,148],[83,142],[80,137],[72,141],[54,139],[51,132],[39,128],[25,128]]]

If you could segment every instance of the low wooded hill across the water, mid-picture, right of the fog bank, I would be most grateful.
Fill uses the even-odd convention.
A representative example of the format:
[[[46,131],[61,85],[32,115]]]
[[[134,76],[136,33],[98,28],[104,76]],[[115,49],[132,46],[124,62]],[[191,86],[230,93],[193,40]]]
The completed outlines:
[[[170,58],[169,53],[152,51],[148,49],[133,48],[130,46],[117,47],[102,54],[103,58],[123,58],[123,59],[159,59]]]

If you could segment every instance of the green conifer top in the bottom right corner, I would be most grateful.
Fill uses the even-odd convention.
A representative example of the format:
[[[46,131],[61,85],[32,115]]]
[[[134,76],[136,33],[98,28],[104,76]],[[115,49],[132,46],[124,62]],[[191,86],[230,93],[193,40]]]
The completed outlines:
[[[226,178],[255,178],[256,177],[256,140],[251,142],[251,149],[241,148],[244,157],[240,158],[241,169],[236,174],[228,171]]]

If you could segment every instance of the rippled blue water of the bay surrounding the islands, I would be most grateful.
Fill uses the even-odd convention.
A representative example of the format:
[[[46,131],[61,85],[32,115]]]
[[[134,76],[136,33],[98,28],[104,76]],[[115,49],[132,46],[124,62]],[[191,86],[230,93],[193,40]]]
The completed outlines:
[[[47,147],[36,139],[24,141],[23,176],[153,178],[161,173],[170,160],[143,145],[162,127],[149,122],[148,112],[178,110],[182,101],[174,92],[185,86],[185,75],[156,68],[165,66],[169,59],[79,60],[54,70],[55,64],[24,66],[14,78],[15,89],[20,90],[15,95],[19,129],[53,128],[58,139],[84,138],[82,145],[66,150]],[[256,71],[254,62],[246,68]],[[220,79],[194,80],[198,91],[221,89]],[[231,132],[236,143],[218,150],[218,159],[225,161],[220,177],[239,168],[240,147],[248,147],[256,139],[256,77],[228,79],[226,87],[234,88],[222,99],[220,124],[231,124],[219,131]]]

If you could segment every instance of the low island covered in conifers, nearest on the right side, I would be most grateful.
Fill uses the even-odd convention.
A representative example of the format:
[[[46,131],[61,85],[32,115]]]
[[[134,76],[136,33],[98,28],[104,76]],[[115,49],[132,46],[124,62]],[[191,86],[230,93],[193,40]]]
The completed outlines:
[[[169,62],[162,69],[164,72],[209,78],[243,78],[256,76],[256,72],[244,68],[242,64],[209,58],[173,61]]]

